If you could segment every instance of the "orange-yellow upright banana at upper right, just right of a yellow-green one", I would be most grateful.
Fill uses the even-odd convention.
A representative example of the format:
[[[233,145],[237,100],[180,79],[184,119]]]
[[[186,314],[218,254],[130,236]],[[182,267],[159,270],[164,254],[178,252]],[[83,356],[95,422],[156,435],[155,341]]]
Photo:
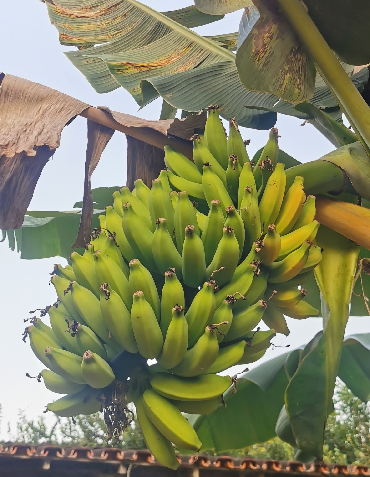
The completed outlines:
[[[285,235],[292,229],[303,210],[305,203],[303,192],[303,177],[296,176],[293,184],[288,188],[280,207],[275,225],[280,235]]]

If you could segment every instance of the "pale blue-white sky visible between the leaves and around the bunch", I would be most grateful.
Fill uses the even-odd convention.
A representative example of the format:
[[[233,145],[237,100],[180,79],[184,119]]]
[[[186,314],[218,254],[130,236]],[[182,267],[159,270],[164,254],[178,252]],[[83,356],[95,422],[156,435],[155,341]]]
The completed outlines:
[[[192,3],[192,0],[146,0],[147,5],[157,10],[173,10]],[[235,12],[226,19],[197,28],[201,34],[221,34],[237,31],[241,12]],[[59,44],[56,29],[50,24],[46,7],[37,0],[3,2],[1,5],[0,71],[21,76],[28,80],[45,84],[51,88],[70,94],[88,104],[105,105],[116,111],[134,114],[147,119],[158,119],[161,100],[156,100],[142,111],[129,93],[123,88],[112,93],[99,95],[63,55],[67,50]],[[288,154],[306,162],[323,156],[333,146],[311,125],[299,126],[301,120],[279,115],[277,127],[282,136],[279,145]],[[250,156],[263,145],[268,131],[242,128],[244,139],[251,139],[248,146]],[[69,210],[77,200],[82,199],[83,167],[86,148],[86,120],[77,117],[62,133],[61,146],[51,161],[45,166],[31,201],[30,209]],[[92,187],[124,185],[126,177],[126,141],[124,135],[116,132],[108,144],[100,164],[92,176]],[[54,290],[48,286],[49,273],[53,264],[65,260],[50,258],[42,260],[21,260],[16,252],[0,244],[1,290],[0,302],[0,436],[7,438],[7,423],[14,430],[19,409],[24,409],[27,417],[34,419],[42,414],[44,405],[57,399],[58,395],[47,391],[43,384],[25,377],[38,374],[42,364],[33,356],[29,344],[21,340],[25,327],[24,318],[30,310],[42,308],[55,301]],[[308,342],[321,327],[321,320],[295,321],[288,319],[291,330],[286,338],[278,335],[276,345],[290,344],[297,347]],[[347,333],[370,332],[367,318],[351,318]],[[286,352],[284,349],[270,349],[264,359]],[[251,365],[250,367],[253,367]],[[243,368],[243,366],[241,367]],[[233,372],[242,369],[234,369]],[[47,419],[54,418],[48,413]]]

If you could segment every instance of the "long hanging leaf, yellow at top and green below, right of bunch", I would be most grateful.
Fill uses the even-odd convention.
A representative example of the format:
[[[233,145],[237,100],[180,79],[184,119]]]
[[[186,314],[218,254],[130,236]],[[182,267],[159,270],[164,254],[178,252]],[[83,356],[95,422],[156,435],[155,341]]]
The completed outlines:
[[[323,259],[315,269],[325,328],[322,336],[303,352],[297,371],[287,386],[285,405],[298,449],[320,459],[349,317],[359,248],[323,226],[316,243],[325,249]]]

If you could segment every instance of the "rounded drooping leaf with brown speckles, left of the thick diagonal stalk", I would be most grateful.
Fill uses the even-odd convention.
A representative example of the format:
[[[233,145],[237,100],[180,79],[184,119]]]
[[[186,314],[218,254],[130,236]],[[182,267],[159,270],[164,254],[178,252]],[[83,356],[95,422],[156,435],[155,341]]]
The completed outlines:
[[[239,26],[236,68],[244,86],[292,103],[315,91],[316,67],[276,1],[254,0]]]

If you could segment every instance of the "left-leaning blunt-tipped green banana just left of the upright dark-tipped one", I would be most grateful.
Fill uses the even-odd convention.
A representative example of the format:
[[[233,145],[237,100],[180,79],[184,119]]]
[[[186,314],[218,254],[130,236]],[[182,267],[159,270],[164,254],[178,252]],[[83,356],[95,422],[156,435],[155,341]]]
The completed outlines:
[[[130,262],[129,284],[132,294],[137,290],[141,290],[144,293],[145,300],[152,307],[159,323],[161,318],[161,301],[159,299],[157,287],[155,286],[150,271],[147,270],[138,259],[131,260]]]

